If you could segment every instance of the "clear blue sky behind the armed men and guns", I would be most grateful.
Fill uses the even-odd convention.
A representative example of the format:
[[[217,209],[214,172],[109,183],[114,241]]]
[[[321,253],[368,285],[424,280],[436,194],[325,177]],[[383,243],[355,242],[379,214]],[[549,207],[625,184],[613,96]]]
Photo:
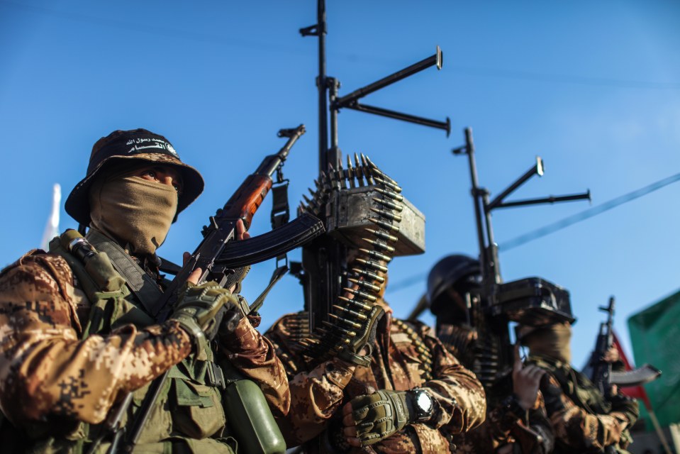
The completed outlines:
[[[474,131],[479,181],[498,194],[545,160],[545,175],[514,199],[590,189],[592,206],[680,172],[680,4],[675,1],[328,1],[328,75],[340,94],[444,52],[426,70],[366,104],[443,120],[439,130],[355,111],[340,114],[340,148],[367,153],[427,218],[427,251],[390,267],[386,296],[406,316],[424,275],[449,253],[476,255],[467,162],[450,150]],[[305,123],[284,172],[296,205],[316,177],[315,1],[168,2],[0,0],[0,265],[37,247],[52,185],[64,197],[84,176],[91,145],[114,129],[166,135],[206,179],[203,196],[160,253],[193,250],[207,216],[266,154],[282,127]],[[496,211],[507,281],[541,276],[569,289],[579,317],[574,362],[591,350],[617,297],[615,327],[680,287],[680,185],[671,184],[550,236],[504,242],[590,206],[572,202]],[[263,210],[269,209],[268,201]],[[261,210],[262,211],[262,210]],[[60,227],[75,223],[62,211]],[[252,233],[269,229],[266,212]],[[297,254],[293,254],[294,256]],[[254,299],[273,263],[245,281]],[[418,277],[423,277],[418,279]],[[410,286],[407,282],[416,282]],[[286,277],[263,327],[301,308]],[[431,319],[425,317],[425,321]]]

